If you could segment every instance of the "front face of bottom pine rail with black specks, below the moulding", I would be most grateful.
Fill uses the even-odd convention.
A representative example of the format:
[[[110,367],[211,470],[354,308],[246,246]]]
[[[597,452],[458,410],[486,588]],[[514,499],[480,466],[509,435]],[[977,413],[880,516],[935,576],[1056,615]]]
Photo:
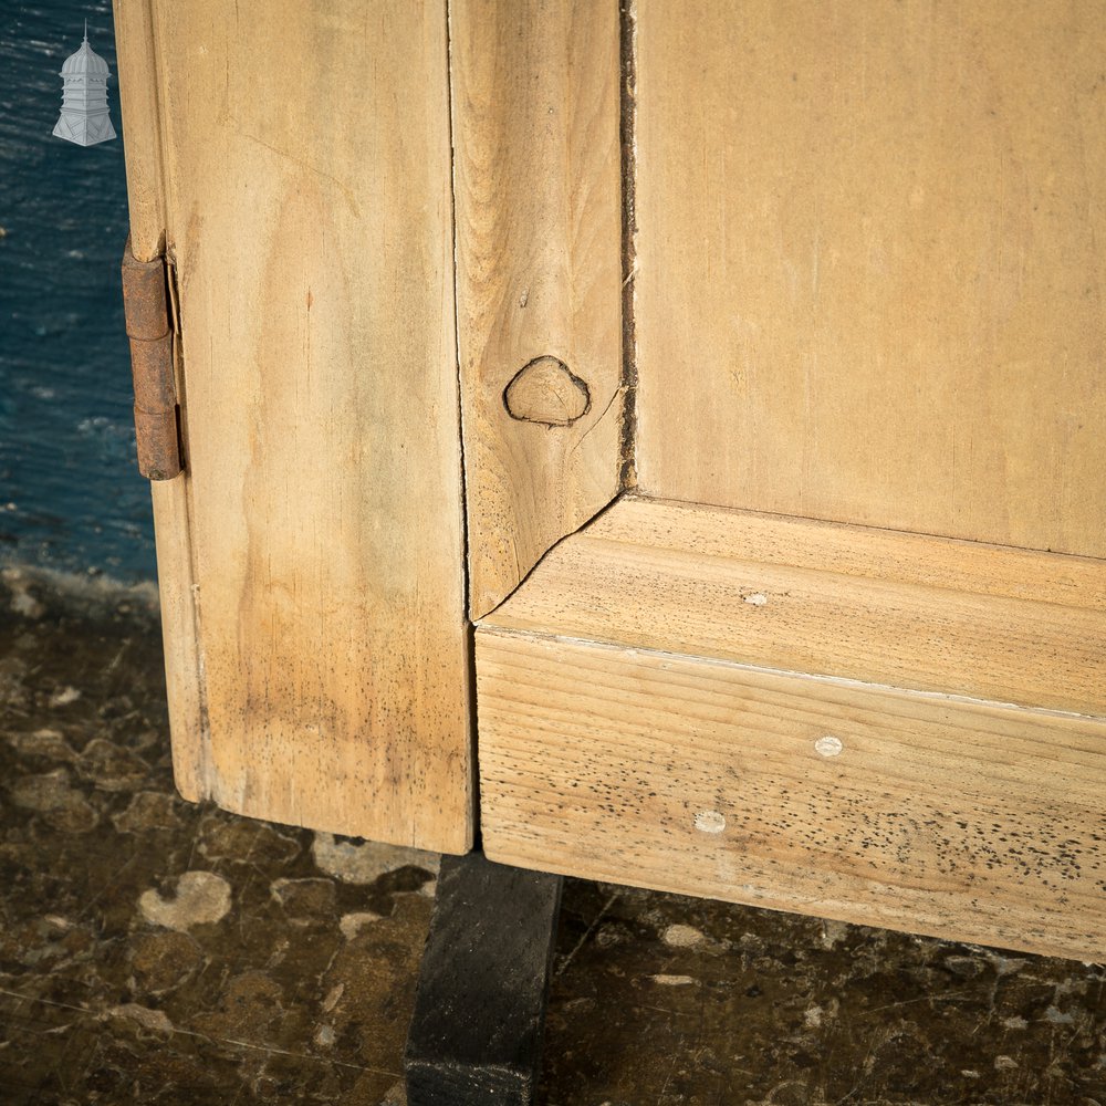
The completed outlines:
[[[477,669],[495,860],[1106,956],[1103,719],[491,628]]]

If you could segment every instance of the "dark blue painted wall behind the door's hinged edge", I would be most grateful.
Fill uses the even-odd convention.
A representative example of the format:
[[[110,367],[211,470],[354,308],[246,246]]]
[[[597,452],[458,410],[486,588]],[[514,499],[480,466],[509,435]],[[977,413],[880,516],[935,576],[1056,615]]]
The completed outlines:
[[[119,135],[87,148],[51,135],[85,18]],[[0,0],[0,560],[132,583],[155,564],[119,291],[117,73],[109,0]]]

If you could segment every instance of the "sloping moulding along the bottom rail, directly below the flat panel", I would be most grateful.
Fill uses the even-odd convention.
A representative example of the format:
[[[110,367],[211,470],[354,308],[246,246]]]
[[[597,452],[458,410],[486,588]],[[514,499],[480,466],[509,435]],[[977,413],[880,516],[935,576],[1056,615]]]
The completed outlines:
[[[483,625],[1106,716],[1106,561],[623,499]]]

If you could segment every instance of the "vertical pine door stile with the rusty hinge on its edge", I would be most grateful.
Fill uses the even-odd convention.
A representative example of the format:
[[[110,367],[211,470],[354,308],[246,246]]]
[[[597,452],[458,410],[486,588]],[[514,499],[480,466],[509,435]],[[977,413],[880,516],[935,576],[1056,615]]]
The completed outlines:
[[[178,786],[465,852],[445,2],[115,14],[133,247],[178,302],[186,472],[154,489]]]

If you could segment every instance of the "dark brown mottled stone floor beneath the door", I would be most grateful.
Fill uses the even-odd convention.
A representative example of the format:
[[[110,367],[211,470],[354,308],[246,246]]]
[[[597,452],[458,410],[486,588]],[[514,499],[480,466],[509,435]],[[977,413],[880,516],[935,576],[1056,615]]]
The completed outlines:
[[[401,1106],[437,857],[173,790],[152,596],[0,575],[0,1106]],[[544,1106],[1106,1106],[1106,971],[570,880]]]

